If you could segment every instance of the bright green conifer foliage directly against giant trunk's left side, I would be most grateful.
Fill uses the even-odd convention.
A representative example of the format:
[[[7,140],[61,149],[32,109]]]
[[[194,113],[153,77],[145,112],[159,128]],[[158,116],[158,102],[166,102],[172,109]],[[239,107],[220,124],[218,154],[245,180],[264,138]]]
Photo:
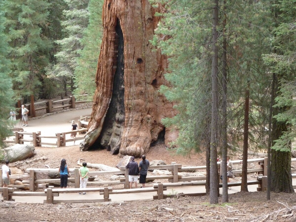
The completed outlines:
[[[83,49],[78,50],[77,67],[74,72],[74,95],[88,94],[92,100],[96,90],[95,76],[102,43],[102,7],[103,0],[90,0],[87,9],[89,25],[83,31],[80,43]]]

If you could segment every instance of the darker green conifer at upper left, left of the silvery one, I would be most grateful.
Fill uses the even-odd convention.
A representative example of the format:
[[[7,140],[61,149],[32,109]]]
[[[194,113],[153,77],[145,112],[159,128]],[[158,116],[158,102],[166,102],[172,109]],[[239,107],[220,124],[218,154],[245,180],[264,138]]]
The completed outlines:
[[[9,39],[12,83],[17,98],[35,94],[42,88],[40,78],[49,63],[52,43],[44,31],[48,8],[44,0],[5,0],[5,32]]]

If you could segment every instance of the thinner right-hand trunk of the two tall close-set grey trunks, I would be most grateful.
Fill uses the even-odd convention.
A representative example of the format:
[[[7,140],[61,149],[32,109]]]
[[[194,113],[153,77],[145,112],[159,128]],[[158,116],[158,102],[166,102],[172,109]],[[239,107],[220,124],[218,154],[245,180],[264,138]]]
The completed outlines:
[[[223,1],[224,6],[226,6],[226,0]],[[225,7],[224,7],[225,11]],[[220,161],[220,170],[222,170],[222,201],[228,202],[228,186],[227,186],[227,38],[226,38],[226,13],[223,20],[223,67],[222,67],[222,129],[221,129],[221,139],[222,139],[222,160]]]

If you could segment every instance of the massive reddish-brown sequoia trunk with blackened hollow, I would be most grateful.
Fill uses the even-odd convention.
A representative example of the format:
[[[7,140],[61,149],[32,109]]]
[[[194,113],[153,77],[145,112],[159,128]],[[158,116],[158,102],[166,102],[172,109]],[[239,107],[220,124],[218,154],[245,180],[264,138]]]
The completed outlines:
[[[175,112],[158,93],[167,84],[163,74],[168,64],[149,42],[160,20],[156,11],[160,7],[153,8],[148,0],[105,0],[97,88],[81,151],[102,147],[119,156],[140,157],[159,134],[167,146],[175,138],[176,131],[161,124]]]

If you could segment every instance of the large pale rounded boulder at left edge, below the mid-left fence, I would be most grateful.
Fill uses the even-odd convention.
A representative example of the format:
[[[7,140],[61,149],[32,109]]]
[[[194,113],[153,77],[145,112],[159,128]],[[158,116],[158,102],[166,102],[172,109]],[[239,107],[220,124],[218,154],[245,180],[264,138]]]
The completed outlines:
[[[3,150],[4,157],[1,161],[9,160],[10,162],[16,162],[33,157],[35,148],[25,144],[15,144],[11,147],[3,148]]]

